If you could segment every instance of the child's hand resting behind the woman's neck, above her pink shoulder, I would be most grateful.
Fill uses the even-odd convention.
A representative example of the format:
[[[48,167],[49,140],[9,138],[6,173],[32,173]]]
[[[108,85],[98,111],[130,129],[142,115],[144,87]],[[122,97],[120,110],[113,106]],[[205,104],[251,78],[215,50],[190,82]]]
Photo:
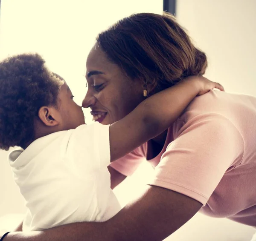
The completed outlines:
[[[199,88],[198,95],[204,95],[214,88],[224,91],[224,88],[220,83],[212,82],[203,76],[189,76],[186,80],[195,82]]]

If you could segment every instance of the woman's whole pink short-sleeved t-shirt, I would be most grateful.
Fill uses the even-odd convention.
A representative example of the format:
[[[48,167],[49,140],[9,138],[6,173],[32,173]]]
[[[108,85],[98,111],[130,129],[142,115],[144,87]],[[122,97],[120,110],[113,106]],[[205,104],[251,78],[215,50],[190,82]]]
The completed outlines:
[[[111,166],[131,175],[147,146]],[[212,217],[256,227],[256,98],[220,91],[195,98],[148,162],[155,167],[148,184],[201,202],[201,212]]]

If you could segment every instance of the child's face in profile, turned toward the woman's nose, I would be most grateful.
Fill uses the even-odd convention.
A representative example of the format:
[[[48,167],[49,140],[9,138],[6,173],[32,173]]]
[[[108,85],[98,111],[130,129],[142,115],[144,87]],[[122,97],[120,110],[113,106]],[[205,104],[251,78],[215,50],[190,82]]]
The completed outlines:
[[[61,86],[58,94],[58,106],[62,130],[76,129],[85,123],[82,107],[73,100],[72,92],[67,83]]]

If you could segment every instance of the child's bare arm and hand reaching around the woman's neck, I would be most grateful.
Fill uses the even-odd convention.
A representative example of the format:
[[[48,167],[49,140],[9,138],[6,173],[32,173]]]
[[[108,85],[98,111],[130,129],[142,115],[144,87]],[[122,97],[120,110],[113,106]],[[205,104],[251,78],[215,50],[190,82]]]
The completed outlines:
[[[175,122],[197,95],[223,87],[202,76],[192,76],[140,103],[109,128],[111,161],[154,138]]]

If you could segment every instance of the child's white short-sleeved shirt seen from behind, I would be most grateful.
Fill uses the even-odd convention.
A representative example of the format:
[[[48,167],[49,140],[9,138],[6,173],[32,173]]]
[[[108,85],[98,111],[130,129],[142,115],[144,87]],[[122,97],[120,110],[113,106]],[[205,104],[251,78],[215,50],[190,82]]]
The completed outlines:
[[[55,132],[9,155],[28,211],[23,231],[106,221],[121,209],[110,187],[109,126]]]

